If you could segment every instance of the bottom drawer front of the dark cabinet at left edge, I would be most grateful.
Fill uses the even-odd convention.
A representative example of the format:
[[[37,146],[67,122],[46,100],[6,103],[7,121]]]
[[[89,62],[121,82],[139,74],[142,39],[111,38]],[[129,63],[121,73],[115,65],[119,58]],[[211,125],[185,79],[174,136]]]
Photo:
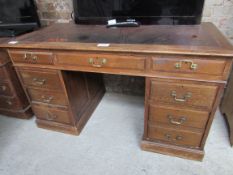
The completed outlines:
[[[20,110],[23,108],[17,98],[1,97],[0,108],[10,110]]]

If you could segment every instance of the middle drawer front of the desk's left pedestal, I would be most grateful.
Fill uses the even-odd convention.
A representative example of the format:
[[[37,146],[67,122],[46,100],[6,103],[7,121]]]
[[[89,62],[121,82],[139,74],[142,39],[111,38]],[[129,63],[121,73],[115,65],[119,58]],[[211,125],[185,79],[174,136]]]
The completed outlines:
[[[33,103],[46,103],[51,105],[66,106],[67,100],[65,94],[61,92],[27,89],[29,97]]]

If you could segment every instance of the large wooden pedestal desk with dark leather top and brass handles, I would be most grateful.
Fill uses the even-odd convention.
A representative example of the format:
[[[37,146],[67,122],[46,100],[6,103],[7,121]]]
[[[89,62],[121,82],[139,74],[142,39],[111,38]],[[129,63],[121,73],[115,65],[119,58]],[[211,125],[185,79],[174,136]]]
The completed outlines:
[[[55,24],[17,41],[1,47],[8,48],[39,127],[78,135],[104,94],[99,73],[143,76],[142,149],[203,158],[233,57],[214,25]]]

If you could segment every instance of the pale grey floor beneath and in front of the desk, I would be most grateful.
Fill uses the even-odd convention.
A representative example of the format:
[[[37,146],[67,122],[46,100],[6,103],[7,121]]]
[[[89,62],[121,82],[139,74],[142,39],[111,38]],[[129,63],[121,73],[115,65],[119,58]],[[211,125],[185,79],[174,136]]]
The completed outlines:
[[[106,93],[80,136],[0,116],[0,175],[232,175],[233,148],[216,113],[203,162],[140,150],[142,97]]]

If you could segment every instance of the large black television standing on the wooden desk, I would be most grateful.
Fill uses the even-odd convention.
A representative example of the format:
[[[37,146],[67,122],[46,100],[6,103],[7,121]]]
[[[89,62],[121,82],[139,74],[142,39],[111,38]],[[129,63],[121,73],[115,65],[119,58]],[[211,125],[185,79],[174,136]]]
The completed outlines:
[[[141,24],[198,24],[204,0],[73,0],[75,22],[106,24],[136,20]]]

